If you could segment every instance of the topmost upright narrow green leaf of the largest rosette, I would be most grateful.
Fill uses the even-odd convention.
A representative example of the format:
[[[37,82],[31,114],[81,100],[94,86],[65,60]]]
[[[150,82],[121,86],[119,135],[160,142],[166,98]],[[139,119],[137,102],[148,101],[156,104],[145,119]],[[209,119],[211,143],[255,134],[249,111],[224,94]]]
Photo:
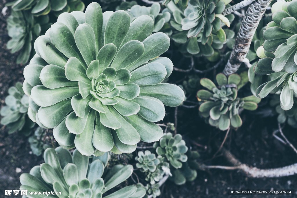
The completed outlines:
[[[96,54],[101,48],[102,41],[102,9],[98,3],[92,2],[86,8],[86,23],[90,24],[95,34]]]

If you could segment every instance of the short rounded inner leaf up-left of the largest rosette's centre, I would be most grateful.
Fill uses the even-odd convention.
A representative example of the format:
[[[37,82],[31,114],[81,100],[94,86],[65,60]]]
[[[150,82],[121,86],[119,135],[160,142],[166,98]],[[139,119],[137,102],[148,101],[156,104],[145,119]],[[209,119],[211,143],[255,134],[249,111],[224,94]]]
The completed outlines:
[[[90,80],[86,75],[86,69],[80,63],[80,61],[75,57],[71,57],[67,61],[65,65],[65,75],[68,80],[72,80],[72,81],[81,80],[85,83],[90,83]]]

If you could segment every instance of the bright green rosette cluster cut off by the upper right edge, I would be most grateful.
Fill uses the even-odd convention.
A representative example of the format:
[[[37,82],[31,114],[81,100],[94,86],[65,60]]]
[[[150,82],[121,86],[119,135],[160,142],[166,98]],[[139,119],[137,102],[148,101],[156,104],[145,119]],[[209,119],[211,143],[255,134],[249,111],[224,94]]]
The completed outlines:
[[[256,94],[264,98],[269,93],[281,91],[280,105],[283,110],[289,110],[297,94],[297,1],[275,4],[277,6],[273,6],[272,21],[263,32],[263,47],[257,51],[262,59],[254,71],[256,74],[275,74],[277,77],[261,84]]]

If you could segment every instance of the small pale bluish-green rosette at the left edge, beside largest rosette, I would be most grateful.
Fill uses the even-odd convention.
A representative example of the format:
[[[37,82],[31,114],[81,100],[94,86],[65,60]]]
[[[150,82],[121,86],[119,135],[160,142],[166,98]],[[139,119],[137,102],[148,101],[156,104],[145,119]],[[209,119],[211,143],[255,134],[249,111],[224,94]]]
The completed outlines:
[[[3,116],[0,123],[6,125],[9,134],[20,132],[28,136],[35,123],[27,115],[29,97],[24,93],[22,83],[18,82],[10,87],[8,94],[5,98],[6,106],[0,110],[0,115]]]

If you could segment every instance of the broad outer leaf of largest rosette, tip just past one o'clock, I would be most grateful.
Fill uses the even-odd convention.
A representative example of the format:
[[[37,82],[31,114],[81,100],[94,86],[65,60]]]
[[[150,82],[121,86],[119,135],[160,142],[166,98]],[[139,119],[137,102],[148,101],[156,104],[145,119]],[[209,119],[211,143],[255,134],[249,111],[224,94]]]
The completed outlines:
[[[129,31],[122,43],[126,44],[131,40],[138,40],[142,42],[154,29],[154,20],[148,15],[142,15],[136,18],[130,25]]]

